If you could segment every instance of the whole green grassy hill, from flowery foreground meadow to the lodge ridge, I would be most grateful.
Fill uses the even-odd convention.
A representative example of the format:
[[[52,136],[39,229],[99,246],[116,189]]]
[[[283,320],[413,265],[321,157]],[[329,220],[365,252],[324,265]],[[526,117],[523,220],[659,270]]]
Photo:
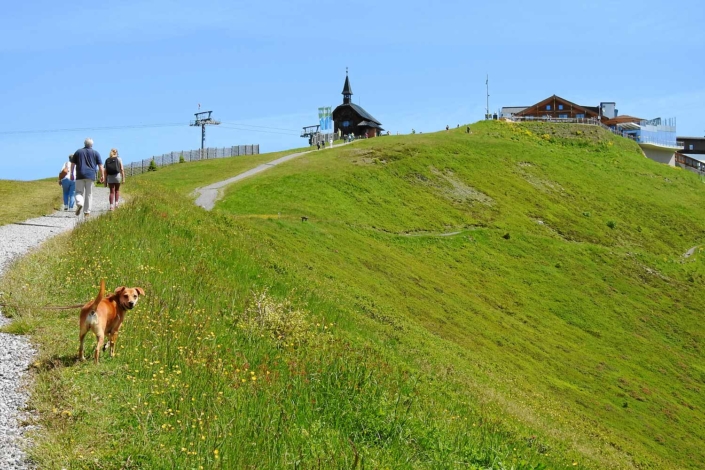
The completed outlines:
[[[97,369],[75,312],[16,311],[40,466],[701,468],[705,186],[589,126],[472,130],[313,152],[211,213],[185,175],[248,163],[174,165],[23,260],[24,305],[148,292]]]

